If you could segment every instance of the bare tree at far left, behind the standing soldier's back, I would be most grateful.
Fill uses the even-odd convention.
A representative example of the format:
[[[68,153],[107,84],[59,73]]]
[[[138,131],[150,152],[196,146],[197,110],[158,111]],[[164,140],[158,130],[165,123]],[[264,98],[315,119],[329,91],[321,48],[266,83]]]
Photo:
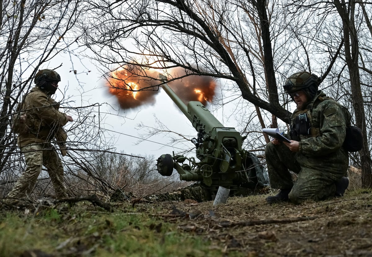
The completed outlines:
[[[39,67],[64,51],[77,1],[1,1],[0,170],[15,152],[10,117]],[[63,43],[61,42],[63,40]],[[58,68],[58,64],[53,68]]]

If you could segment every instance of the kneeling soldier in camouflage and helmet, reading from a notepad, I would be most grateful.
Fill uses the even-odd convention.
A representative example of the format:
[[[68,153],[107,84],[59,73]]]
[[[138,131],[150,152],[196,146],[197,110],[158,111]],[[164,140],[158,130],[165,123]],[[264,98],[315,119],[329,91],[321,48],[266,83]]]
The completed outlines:
[[[342,145],[350,113],[318,90],[320,83],[321,78],[303,71],[283,86],[297,108],[291,116],[291,143],[274,139],[266,145],[270,186],[280,189],[266,198],[269,203],[343,196],[349,185],[344,177],[349,155]],[[289,170],[298,174],[295,183]]]

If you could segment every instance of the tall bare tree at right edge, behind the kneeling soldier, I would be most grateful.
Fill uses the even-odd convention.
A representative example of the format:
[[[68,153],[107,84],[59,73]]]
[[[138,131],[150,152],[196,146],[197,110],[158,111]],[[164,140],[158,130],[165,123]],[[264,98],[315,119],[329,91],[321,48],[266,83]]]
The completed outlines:
[[[316,24],[321,33],[314,34],[310,30],[309,35],[319,42],[311,49],[319,53],[324,52],[322,48],[331,49],[334,44],[331,42],[338,39],[343,43],[340,58],[336,60],[335,67],[327,78],[330,83],[328,91],[336,96],[349,109],[354,110],[355,124],[362,129],[363,148],[359,152],[359,161],[355,161],[355,154],[352,154],[353,163],[359,163],[362,167],[363,187],[372,187],[371,173],[371,141],[368,135],[371,134],[370,118],[365,116],[365,109],[370,109],[366,104],[366,97],[371,94],[367,86],[371,81],[371,25],[367,15],[366,6],[363,3],[345,2],[334,0],[324,3],[322,1],[292,1],[287,5],[289,12],[298,19],[303,17],[319,17]],[[367,7],[371,10],[371,5]],[[327,21],[327,22],[326,22]],[[340,38],[339,34],[342,34]],[[368,35],[368,36],[366,36]],[[350,104],[351,103],[351,104]]]

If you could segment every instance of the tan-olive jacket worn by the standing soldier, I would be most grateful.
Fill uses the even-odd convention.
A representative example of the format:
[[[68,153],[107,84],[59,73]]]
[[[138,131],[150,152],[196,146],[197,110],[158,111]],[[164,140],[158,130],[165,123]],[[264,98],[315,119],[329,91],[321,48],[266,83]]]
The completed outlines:
[[[19,146],[50,142],[55,133],[64,126],[68,119],[59,110],[55,102],[38,86],[26,95],[23,112],[27,115],[28,132],[18,135]]]

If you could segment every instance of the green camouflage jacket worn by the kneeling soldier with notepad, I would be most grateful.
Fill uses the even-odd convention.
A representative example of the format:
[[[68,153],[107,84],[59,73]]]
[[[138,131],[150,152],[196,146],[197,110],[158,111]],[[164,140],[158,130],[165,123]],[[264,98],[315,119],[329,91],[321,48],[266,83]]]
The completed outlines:
[[[323,100],[324,99],[324,100]],[[348,162],[347,151],[342,145],[346,136],[346,125],[350,121],[349,111],[334,99],[327,99],[318,91],[305,110],[295,110],[291,116],[291,128],[296,117],[307,113],[310,120],[308,135],[299,135],[297,161],[300,164],[326,165]],[[327,165],[326,165],[327,166]]]

